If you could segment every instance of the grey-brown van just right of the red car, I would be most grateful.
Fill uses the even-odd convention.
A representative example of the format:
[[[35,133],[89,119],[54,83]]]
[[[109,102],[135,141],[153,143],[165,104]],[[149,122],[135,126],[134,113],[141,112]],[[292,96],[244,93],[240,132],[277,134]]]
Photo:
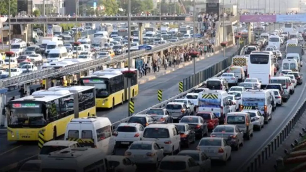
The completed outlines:
[[[246,139],[251,139],[254,133],[254,125],[250,114],[247,112],[230,112],[226,115],[226,124],[236,125]]]

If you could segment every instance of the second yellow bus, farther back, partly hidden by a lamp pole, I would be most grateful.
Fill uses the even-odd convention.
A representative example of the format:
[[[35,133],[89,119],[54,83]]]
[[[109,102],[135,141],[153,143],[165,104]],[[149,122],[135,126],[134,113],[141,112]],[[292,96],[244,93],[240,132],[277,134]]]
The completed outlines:
[[[122,74],[127,68],[105,69],[82,77],[82,85],[94,86],[96,88],[96,107],[114,108],[123,104],[128,97],[128,79]],[[131,97],[138,95],[137,69],[131,69],[136,75],[131,78]]]

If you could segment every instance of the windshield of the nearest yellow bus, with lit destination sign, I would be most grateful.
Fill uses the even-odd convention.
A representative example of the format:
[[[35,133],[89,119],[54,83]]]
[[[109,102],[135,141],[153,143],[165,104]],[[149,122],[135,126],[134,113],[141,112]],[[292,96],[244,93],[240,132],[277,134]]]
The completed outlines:
[[[40,128],[46,125],[43,103],[39,102],[14,102],[9,104],[8,125],[11,128]]]

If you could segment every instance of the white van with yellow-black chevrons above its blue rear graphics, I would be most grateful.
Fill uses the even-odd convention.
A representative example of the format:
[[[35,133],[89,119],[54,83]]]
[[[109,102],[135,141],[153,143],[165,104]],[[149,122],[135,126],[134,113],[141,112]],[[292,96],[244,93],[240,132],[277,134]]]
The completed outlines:
[[[222,90],[203,90],[199,93],[198,112],[212,112],[223,124],[229,111],[227,92]]]

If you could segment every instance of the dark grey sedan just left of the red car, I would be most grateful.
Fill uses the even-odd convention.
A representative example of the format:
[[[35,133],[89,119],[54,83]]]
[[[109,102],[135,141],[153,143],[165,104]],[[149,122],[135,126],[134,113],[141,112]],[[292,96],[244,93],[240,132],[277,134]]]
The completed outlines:
[[[188,124],[199,138],[206,136],[208,133],[207,123],[200,116],[184,116],[179,123]]]

